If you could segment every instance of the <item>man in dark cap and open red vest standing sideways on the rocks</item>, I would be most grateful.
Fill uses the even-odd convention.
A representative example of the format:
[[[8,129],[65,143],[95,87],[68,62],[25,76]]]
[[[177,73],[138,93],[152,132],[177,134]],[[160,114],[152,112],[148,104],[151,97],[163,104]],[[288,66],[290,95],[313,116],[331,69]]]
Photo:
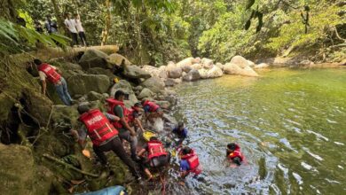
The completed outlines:
[[[135,129],[129,125],[130,110],[127,109],[123,103],[123,100],[128,97],[122,90],[117,90],[114,94],[114,98],[106,99],[107,113],[114,114],[120,118],[120,121],[114,121],[113,125],[119,130],[119,137],[121,140],[126,140],[130,143],[130,152],[132,160],[139,160],[137,156],[137,144],[138,138]]]

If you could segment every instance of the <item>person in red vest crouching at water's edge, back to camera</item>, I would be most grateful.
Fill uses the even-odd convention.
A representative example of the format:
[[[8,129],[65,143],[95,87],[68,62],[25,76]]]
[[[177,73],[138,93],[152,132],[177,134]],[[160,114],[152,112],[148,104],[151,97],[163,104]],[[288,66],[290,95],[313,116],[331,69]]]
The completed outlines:
[[[146,156],[145,153],[147,153]],[[150,141],[138,152],[138,156],[141,157],[140,164],[148,180],[153,179],[149,168],[161,168],[168,165],[170,160],[170,153],[166,152],[161,141],[155,136],[150,137]]]

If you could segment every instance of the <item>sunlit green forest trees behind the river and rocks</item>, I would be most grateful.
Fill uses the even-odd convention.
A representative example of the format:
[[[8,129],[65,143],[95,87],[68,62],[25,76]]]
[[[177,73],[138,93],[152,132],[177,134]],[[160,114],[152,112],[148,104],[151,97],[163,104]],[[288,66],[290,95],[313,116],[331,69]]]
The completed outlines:
[[[19,18],[33,30],[34,20],[44,24],[51,14],[64,35],[64,13],[78,12],[91,45],[118,44],[138,65],[161,66],[189,56],[224,63],[234,55],[331,62],[345,58],[345,5],[342,0],[4,0],[0,50],[12,50],[4,47],[11,42],[6,21],[19,31],[13,34],[16,42],[32,39],[18,46],[28,51],[40,37],[31,31],[31,37],[23,37],[22,28],[15,27]],[[54,45],[48,35],[44,38]],[[62,36],[51,38],[66,44]]]

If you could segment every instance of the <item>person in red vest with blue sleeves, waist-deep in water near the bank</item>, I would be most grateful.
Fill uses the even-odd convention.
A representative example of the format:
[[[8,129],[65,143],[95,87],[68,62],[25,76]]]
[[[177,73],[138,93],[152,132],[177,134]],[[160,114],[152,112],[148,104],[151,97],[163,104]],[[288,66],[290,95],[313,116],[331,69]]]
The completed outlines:
[[[201,164],[197,154],[188,146],[183,147],[180,152],[180,175],[185,177],[189,173],[201,174]]]

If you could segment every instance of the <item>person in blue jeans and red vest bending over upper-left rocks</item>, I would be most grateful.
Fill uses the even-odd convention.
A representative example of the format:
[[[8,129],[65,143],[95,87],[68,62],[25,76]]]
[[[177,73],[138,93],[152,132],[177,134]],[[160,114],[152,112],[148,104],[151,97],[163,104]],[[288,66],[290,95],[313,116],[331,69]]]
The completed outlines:
[[[38,74],[42,82],[42,93],[45,95],[47,89],[46,80],[54,84],[55,89],[59,95],[59,98],[65,105],[72,105],[72,98],[67,90],[67,82],[58,72],[59,69],[55,66],[51,66],[47,63],[43,63],[40,59],[35,58],[34,63],[37,66]]]

